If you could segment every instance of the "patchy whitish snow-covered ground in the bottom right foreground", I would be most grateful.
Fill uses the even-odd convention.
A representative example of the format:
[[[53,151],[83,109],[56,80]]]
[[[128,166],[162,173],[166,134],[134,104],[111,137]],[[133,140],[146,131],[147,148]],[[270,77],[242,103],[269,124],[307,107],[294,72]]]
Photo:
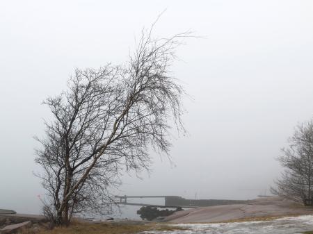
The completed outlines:
[[[153,234],[296,234],[313,230],[313,215],[299,217],[284,217],[270,221],[236,222],[225,224],[173,224],[188,230],[179,231],[149,231]]]

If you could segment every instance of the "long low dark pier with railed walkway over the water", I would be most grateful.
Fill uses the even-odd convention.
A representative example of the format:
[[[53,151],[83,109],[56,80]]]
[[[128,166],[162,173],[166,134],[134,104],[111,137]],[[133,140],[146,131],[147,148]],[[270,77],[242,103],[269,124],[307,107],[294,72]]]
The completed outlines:
[[[150,206],[156,208],[200,208],[206,206],[221,206],[230,204],[246,203],[246,200],[225,200],[225,199],[184,199],[179,196],[115,196],[120,199],[118,204],[129,206]],[[163,198],[164,205],[152,205],[147,203],[131,203],[127,199],[131,198]]]

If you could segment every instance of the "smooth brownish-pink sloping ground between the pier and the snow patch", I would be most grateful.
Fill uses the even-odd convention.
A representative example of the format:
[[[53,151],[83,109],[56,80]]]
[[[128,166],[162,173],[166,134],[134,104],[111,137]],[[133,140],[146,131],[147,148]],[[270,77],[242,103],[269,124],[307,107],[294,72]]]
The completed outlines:
[[[312,215],[313,208],[280,197],[251,200],[245,204],[210,206],[175,212],[164,219],[171,223],[227,222],[258,217],[282,217],[288,215]]]

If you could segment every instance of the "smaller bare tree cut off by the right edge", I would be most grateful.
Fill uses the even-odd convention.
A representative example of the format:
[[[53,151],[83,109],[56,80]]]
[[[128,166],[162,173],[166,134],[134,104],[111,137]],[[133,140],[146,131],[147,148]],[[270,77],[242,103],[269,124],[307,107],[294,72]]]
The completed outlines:
[[[275,181],[274,194],[312,206],[313,185],[313,122],[299,125],[289,138],[289,147],[282,149],[278,161],[284,167]]]

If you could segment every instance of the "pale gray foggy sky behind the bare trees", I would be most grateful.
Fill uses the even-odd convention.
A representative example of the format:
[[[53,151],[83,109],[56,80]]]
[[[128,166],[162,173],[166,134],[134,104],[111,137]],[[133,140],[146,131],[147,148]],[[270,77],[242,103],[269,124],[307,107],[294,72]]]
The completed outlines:
[[[41,101],[75,67],[125,62],[165,9],[154,35],[205,37],[179,47],[172,67],[193,97],[190,135],[173,141],[174,164],[154,155],[152,174],[125,176],[120,193],[251,199],[273,184],[280,148],[313,113],[312,1],[0,1],[1,208],[40,210]]]

